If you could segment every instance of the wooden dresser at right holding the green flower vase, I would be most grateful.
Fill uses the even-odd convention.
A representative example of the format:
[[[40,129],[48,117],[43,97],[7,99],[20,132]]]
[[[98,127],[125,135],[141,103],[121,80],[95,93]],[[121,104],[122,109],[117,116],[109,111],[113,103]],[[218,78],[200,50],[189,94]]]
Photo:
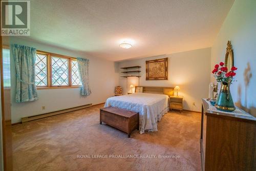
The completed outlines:
[[[256,118],[216,112],[209,105],[202,99],[202,170],[256,170]]]

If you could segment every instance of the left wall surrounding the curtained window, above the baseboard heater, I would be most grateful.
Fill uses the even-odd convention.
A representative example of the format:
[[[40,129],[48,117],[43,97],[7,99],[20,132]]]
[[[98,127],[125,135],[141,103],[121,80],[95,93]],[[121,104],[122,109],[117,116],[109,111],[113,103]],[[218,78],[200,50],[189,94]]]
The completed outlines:
[[[92,94],[81,96],[80,89],[48,89],[37,90],[39,100],[32,102],[15,102],[15,69],[11,57],[11,84],[12,84],[12,123],[21,121],[22,117],[53,112],[61,109],[93,103],[98,104],[114,95],[115,86],[118,84],[118,72],[115,72],[115,63],[105,59],[88,56],[86,54],[61,49],[53,46],[40,44],[16,37],[10,38],[10,44],[19,44],[34,47],[37,50],[52,52],[72,57],[83,57],[90,59],[89,83]],[[45,110],[41,106],[46,106]]]

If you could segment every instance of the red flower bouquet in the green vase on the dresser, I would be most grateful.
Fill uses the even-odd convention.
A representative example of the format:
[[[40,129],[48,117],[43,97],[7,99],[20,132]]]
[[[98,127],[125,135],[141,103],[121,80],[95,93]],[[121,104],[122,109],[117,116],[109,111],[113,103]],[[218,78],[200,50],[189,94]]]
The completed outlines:
[[[220,62],[220,65],[216,64],[214,70],[212,70],[212,74],[215,74],[214,77],[218,82],[226,82],[231,84],[233,81],[233,76],[236,75],[234,71],[236,71],[238,68],[232,67],[228,72],[228,68],[224,67],[224,64],[225,63],[223,62]]]

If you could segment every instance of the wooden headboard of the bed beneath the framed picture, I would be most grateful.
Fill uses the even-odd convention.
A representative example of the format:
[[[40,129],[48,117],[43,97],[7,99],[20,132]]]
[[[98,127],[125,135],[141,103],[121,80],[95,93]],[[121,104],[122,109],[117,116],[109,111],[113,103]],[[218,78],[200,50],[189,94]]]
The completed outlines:
[[[174,88],[172,87],[136,86],[135,92],[139,92],[139,89],[142,89],[142,93],[166,94],[168,96],[174,95]]]

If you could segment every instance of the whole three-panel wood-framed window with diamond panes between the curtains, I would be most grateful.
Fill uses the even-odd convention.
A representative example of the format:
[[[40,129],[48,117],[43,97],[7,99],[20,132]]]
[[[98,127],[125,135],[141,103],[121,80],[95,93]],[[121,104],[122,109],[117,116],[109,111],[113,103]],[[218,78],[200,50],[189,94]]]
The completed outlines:
[[[73,57],[37,51],[35,75],[38,89],[74,88],[81,85],[77,60]]]

